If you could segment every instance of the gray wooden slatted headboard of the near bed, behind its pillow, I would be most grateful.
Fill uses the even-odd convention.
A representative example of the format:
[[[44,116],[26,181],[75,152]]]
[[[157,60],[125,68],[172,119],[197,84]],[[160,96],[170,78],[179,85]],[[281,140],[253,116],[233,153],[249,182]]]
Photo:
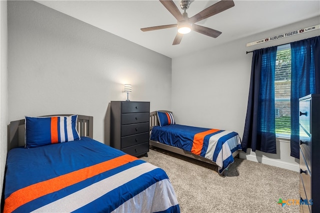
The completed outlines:
[[[71,114],[53,114],[45,116],[69,116]],[[80,136],[93,138],[93,117],[78,115],[76,128]],[[24,119],[11,121],[8,125],[8,151],[24,145]]]

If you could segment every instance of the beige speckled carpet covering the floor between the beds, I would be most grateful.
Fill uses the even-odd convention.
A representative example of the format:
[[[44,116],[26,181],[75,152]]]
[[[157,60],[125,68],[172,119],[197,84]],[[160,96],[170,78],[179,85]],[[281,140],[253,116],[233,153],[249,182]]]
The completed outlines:
[[[183,213],[299,212],[277,203],[299,198],[298,172],[236,158],[220,176],[215,165],[158,148],[141,159],[166,171]]]

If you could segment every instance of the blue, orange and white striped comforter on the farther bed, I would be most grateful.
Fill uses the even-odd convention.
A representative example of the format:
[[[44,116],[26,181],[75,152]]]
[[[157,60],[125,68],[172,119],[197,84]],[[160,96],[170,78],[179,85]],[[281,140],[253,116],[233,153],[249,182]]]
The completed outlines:
[[[234,159],[232,153],[241,149],[241,140],[234,131],[180,124],[153,126],[150,140],[181,148],[218,165],[222,173]]]

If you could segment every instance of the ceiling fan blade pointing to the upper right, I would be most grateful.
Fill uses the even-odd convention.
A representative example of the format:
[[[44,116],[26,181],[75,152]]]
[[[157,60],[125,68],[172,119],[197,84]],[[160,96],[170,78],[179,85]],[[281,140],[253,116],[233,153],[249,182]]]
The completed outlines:
[[[222,12],[228,8],[231,8],[234,6],[233,0],[220,0],[216,2],[215,4],[207,7],[206,9],[203,9],[199,13],[193,15],[189,18],[189,21],[191,23],[198,22],[200,20],[203,20],[204,18],[210,17],[212,15],[215,15],[219,12]]]

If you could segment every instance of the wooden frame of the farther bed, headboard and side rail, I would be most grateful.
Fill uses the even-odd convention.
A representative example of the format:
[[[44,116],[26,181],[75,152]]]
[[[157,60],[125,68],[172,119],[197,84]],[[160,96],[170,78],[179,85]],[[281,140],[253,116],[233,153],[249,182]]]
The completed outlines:
[[[167,111],[167,110],[158,110],[158,111],[160,111],[160,112],[171,112],[171,111]],[[152,111],[152,112],[150,112],[150,132],[151,132],[152,127],[155,126],[155,125],[158,125],[158,119],[157,119],[156,111]],[[167,145],[167,144],[163,144],[163,143],[160,143],[160,142],[157,142],[157,141],[154,141],[154,140],[149,140],[149,144],[151,146],[154,146],[154,147],[162,148],[164,150],[172,151],[174,153],[181,154],[183,156],[191,157],[193,159],[197,159],[197,160],[200,160],[200,161],[203,161],[203,162],[207,162],[207,163],[211,163],[213,165],[216,165],[216,163],[213,162],[210,159],[207,159],[205,157],[193,154],[192,152],[185,151],[185,150],[183,150],[181,148],[178,148],[178,147],[174,147],[174,146],[170,146],[170,145]],[[239,153],[238,150],[234,151],[232,153],[233,158],[236,157],[238,155],[238,153]]]

